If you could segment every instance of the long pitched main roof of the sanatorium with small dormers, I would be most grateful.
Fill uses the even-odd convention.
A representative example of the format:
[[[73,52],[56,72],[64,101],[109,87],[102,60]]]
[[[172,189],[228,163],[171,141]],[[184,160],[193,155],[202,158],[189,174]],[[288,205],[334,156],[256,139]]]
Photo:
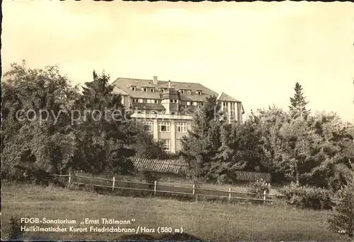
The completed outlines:
[[[206,97],[210,95],[217,96],[217,92],[210,90],[209,88],[201,85],[200,83],[181,83],[181,82],[170,82],[171,88],[175,90],[190,90],[190,95],[181,94],[182,101],[195,101],[202,102]],[[160,88],[169,88],[169,81],[159,80],[158,84],[155,85],[153,80],[148,79],[135,79],[135,78],[118,78],[115,80],[112,85],[115,85],[123,92],[126,92],[130,97],[133,98],[151,98],[151,99],[160,99],[159,89]],[[154,87],[155,92],[141,92],[141,91],[132,91],[130,90],[131,86],[136,86],[137,90],[140,90],[142,87]],[[202,91],[202,95],[197,95],[195,92],[197,90]]]

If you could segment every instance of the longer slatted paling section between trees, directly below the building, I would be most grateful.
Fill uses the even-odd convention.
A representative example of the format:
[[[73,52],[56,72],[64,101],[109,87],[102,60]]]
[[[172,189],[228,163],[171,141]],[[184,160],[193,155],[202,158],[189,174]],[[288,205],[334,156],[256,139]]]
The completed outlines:
[[[156,171],[161,173],[185,174],[186,165],[175,159],[141,159],[132,160],[138,170]]]

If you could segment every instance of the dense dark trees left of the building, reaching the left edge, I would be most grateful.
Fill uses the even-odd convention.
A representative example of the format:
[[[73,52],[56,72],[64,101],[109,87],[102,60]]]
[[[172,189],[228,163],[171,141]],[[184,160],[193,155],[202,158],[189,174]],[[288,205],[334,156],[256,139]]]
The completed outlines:
[[[131,158],[166,157],[160,143],[130,119],[109,75],[73,85],[56,66],[13,63],[1,83],[1,177],[40,179],[84,171],[130,174]]]

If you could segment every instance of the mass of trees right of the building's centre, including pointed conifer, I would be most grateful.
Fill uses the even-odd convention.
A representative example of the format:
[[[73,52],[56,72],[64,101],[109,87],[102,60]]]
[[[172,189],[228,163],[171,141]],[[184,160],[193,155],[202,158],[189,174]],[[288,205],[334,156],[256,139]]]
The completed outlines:
[[[208,98],[182,140],[190,177],[232,182],[233,171],[246,170],[269,172],[275,182],[332,190],[346,185],[353,171],[353,124],[334,113],[311,114],[307,104],[297,83],[288,110],[258,109],[244,123],[229,124],[217,98]]]

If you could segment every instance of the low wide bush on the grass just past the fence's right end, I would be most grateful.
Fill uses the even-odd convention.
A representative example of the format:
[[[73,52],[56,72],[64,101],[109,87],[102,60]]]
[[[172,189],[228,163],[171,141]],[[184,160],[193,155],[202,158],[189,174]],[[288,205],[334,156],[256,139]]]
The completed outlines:
[[[312,208],[314,210],[330,209],[333,205],[330,198],[330,191],[315,186],[297,186],[295,183],[283,186],[280,193],[286,196],[287,203],[301,208]]]

